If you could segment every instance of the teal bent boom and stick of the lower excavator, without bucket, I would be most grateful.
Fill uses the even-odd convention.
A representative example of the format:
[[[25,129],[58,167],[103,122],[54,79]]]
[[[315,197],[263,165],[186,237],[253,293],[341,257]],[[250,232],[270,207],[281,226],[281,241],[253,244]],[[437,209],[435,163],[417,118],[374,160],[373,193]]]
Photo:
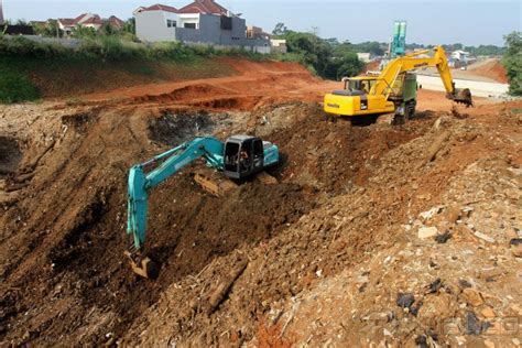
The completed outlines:
[[[133,236],[134,252],[139,252],[145,242],[149,191],[200,157],[207,165],[222,170],[222,153],[224,143],[219,140],[196,138],[131,167],[128,183],[127,233]],[[160,164],[156,165],[157,163]],[[145,167],[152,165],[156,167],[145,173]]]

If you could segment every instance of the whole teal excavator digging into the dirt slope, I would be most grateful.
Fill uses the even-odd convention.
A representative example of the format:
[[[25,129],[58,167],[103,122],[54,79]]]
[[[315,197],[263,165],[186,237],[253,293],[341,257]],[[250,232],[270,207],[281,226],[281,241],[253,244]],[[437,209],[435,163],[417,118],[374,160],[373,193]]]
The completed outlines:
[[[155,262],[142,254],[150,191],[198,159],[226,177],[239,181],[276,165],[280,153],[275,144],[257,137],[232,135],[225,143],[213,137],[200,137],[132,166],[128,183],[127,233],[132,235],[133,246],[126,255],[138,275],[154,279],[159,274]],[[214,194],[219,191],[218,185],[202,177],[196,181]]]

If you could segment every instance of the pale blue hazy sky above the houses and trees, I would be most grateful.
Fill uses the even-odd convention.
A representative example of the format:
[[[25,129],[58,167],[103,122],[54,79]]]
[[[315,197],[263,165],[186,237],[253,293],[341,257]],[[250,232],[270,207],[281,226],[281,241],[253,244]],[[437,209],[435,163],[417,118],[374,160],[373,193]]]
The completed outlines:
[[[0,0],[1,1],[1,0]],[[6,19],[46,20],[98,13],[132,17],[139,6],[181,8],[192,0],[3,0]],[[278,22],[295,31],[316,29],[322,37],[352,43],[388,42],[394,20],[407,21],[407,43],[503,45],[503,35],[522,31],[521,0],[217,0],[248,25],[271,32]]]

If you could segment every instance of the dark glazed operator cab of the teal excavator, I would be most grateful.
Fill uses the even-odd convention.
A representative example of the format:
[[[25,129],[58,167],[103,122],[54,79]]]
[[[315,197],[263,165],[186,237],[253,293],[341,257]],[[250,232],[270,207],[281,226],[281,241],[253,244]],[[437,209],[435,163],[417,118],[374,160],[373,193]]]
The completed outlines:
[[[225,175],[243,178],[264,170],[264,146],[260,138],[230,137],[225,144]]]

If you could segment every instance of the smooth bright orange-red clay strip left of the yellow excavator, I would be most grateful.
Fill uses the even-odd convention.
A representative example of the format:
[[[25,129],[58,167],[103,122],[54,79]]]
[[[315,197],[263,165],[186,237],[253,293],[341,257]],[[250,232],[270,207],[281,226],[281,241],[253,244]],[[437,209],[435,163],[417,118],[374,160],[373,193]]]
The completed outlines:
[[[317,101],[338,87],[323,81],[303,66],[281,62],[225,59],[239,76],[150,84],[83,96],[87,104],[112,101],[140,105],[163,104],[206,109],[252,109],[286,100]]]

